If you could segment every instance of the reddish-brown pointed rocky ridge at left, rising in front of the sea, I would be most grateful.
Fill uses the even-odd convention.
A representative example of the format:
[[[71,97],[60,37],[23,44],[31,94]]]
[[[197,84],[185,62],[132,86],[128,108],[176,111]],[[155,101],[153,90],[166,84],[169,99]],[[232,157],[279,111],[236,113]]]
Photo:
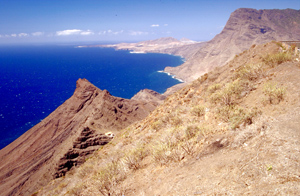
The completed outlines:
[[[0,151],[1,194],[32,194],[108,143],[106,132],[145,118],[156,105],[114,97],[79,79],[70,99]]]

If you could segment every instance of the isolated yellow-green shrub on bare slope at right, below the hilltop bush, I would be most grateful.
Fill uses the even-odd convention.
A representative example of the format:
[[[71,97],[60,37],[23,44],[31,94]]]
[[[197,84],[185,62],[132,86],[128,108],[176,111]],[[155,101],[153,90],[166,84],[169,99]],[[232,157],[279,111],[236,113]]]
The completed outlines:
[[[279,103],[284,99],[285,88],[279,87],[276,83],[268,82],[264,85],[263,92],[267,96],[267,102],[270,104]]]

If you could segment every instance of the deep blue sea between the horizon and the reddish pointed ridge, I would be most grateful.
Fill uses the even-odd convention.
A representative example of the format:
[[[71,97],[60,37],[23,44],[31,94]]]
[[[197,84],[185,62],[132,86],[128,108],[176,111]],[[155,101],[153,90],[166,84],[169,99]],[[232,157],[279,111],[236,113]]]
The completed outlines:
[[[78,78],[130,99],[141,89],[163,93],[180,83],[161,73],[183,59],[72,45],[0,46],[0,149],[70,98]]]

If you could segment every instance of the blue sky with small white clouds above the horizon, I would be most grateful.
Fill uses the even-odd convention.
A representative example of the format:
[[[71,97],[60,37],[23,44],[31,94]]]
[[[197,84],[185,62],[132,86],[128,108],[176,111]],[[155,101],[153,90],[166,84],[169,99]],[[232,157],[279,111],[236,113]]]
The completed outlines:
[[[241,7],[300,9],[300,0],[0,0],[0,44],[207,41]]]

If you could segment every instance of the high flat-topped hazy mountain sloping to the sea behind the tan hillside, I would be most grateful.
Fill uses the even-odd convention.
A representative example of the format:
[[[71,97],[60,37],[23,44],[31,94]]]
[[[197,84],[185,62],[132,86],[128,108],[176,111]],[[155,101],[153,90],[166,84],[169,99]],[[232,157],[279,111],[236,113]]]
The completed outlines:
[[[300,10],[234,11],[220,34],[203,45],[186,63],[165,71],[193,81],[214,67],[222,66],[253,44],[272,40],[300,40]]]

